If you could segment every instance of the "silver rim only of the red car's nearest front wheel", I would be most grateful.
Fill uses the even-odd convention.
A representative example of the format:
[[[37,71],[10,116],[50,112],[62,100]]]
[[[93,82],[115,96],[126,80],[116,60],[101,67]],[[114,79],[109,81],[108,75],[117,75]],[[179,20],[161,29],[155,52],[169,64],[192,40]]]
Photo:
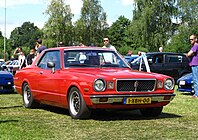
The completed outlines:
[[[69,106],[70,106],[70,111],[73,115],[77,115],[79,113],[79,111],[80,111],[80,96],[77,91],[74,91],[71,93]]]

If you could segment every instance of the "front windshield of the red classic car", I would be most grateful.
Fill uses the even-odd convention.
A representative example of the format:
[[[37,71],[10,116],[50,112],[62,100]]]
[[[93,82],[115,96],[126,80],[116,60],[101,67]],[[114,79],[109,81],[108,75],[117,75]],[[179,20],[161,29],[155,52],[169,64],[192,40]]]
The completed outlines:
[[[64,64],[67,67],[119,67],[129,65],[114,51],[108,50],[65,50]]]

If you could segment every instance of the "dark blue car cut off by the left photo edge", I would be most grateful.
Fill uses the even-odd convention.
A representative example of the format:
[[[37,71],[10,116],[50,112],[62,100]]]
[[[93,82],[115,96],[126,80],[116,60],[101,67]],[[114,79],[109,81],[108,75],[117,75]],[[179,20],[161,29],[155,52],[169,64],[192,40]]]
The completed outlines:
[[[0,71],[0,94],[14,92],[14,79],[12,73]]]

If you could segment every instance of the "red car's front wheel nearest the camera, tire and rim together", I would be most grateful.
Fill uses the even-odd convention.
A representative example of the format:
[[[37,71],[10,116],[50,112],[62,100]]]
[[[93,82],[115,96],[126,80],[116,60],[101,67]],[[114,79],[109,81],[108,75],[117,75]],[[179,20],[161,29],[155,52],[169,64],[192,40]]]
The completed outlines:
[[[86,119],[90,117],[91,111],[87,107],[80,91],[73,87],[68,97],[69,114],[73,119]]]

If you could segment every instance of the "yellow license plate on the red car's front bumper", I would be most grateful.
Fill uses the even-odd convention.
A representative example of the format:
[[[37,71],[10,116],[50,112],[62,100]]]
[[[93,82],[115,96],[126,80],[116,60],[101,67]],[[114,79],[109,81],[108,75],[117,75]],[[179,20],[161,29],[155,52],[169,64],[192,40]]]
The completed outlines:
[[[150,104],[151,97],[130,97],[125,98],[124,104]]]

